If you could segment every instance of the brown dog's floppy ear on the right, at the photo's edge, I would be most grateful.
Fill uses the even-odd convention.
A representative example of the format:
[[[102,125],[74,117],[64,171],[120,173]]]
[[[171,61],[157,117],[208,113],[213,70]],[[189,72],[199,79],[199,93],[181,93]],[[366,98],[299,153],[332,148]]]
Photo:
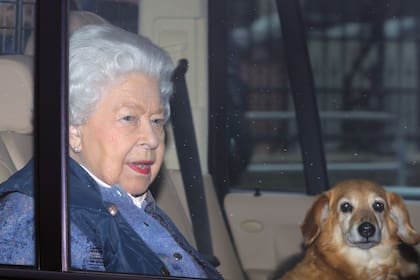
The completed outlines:
[[[415,245],[420,242],[420,234],[410,223],[410,216],[404,201],[396,193],[387,192],[392,221],[397,225],[397,235],[405,243]]]

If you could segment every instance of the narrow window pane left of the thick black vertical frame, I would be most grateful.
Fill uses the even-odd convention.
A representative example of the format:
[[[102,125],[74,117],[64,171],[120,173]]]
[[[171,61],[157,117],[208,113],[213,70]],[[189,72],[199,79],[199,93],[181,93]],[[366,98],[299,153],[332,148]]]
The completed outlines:
[[[0,3],[0,264],[35,263],[33,53],[24,51],[34,14],[35,1]]]

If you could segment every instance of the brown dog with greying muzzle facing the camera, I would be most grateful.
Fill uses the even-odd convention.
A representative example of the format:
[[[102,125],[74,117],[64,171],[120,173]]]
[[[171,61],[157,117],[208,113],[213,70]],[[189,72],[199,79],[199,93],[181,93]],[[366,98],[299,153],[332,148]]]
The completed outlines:
[[[319,196],[301,230],[305,257],[282,280],[400,279],[398,245],[420,242],[402,198],[367,180]]]

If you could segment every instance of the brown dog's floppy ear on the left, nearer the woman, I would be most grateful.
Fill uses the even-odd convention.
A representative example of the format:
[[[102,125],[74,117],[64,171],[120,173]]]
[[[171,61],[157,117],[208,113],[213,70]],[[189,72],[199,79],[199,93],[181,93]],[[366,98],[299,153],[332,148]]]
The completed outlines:
[[[322,194],[312,204],[308,210],[300,227],[305,245],[310,245],[321,232],[322,223],[328,217],[329,196],[327,193]]]

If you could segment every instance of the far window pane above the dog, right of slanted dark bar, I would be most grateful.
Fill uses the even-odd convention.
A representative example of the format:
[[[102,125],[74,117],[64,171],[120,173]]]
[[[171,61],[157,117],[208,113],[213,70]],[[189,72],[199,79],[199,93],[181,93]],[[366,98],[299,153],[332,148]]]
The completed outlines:
[[[418,186],[420,12],[410,1],[327,2],[303,10],[331,183]]]

